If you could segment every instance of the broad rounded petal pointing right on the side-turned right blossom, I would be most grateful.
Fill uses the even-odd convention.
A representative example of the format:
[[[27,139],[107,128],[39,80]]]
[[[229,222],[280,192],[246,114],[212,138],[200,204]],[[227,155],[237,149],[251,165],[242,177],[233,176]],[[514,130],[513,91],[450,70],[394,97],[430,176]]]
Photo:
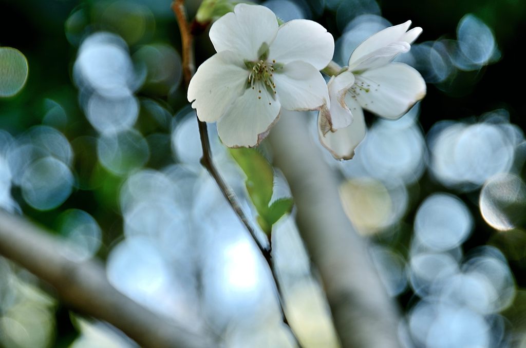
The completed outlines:
[[[355,78],[355,86],[360,86],[361,82],[370,86],[368,92],[354,87],[353,97],[361,107],[381,117],[396,119],[426,96],[426,82],[407,64],[390,63],[355,75]]]

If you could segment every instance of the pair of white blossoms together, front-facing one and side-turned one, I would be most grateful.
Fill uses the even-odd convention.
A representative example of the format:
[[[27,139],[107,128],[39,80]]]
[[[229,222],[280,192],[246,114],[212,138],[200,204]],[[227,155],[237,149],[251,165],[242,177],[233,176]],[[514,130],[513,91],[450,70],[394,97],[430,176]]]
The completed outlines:
[[[320,24],[295,19],[279,25],[267,7],[238,4],[210,28],[216,54],[199,66],[188,101],[199,120],[216,122],[228,147],[260,144],[287,110],[318,110],[321,144],[337,159],[350,159],[365,137],[363,110],[398,118],[426,94],[417,70],[392,60],[408,52],[422,29],[411,22],[389,27],[361,43],[349,66],[331,62],[334,39]]]

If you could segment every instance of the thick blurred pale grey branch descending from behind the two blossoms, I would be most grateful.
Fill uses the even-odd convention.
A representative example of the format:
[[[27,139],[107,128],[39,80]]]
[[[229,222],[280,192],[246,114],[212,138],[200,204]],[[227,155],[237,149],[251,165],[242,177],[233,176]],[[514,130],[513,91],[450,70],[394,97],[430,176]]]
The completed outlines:
[[[283,115],[270,133],[275,163],[298,207],[302,239],[318,268],[343,347],[399,347],[396,305],[341,207],[335,173],[310,138],[305,114]]]

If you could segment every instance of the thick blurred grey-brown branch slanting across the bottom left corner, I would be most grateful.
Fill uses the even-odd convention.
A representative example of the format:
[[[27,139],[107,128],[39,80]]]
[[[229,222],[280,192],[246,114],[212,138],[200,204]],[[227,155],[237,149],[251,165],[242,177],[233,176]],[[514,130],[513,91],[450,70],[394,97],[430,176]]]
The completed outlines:
[[[207,337],[177,326],[115,290],[99,262],[70,260],[65,243],[3,211],[0,211],[0,255],[52,285],[72,308],[107,321],[140,346],[214,346]]]

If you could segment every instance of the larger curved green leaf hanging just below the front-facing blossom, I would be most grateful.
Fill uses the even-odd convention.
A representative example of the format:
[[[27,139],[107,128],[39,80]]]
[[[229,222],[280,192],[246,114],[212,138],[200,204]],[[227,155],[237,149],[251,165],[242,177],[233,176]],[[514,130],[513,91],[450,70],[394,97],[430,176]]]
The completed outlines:
[[[230,155],[247,176],[248,195],[260,216],[266,216],[272,198],[274,172],[265,157],[254,148],[230,149]]]

